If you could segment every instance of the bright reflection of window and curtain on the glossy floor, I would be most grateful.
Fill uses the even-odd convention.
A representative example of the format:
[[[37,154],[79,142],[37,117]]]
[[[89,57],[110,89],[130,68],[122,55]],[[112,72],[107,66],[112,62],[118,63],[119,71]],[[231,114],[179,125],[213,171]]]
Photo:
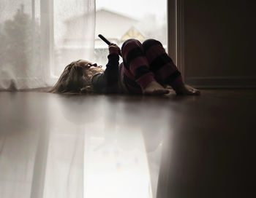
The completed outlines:
[[[1,197],[156,197],[170,114],[154,98],[0,95]]]

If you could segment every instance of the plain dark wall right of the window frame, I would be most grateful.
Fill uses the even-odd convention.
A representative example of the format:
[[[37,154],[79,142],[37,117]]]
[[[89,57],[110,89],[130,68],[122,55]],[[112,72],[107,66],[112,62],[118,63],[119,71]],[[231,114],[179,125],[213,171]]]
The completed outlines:
[[[186,81],[256,85],[255,23],[256,1],[184,0]]]

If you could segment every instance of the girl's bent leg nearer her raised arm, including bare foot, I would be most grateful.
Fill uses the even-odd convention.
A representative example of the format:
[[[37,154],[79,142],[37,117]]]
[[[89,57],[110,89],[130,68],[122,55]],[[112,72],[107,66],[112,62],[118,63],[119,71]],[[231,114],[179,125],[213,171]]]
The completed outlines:
[[[154,79],[148,60],[144,54],[140,41],[129,39],[121,47],[124,61],[124,83],[127,89],[133,93],[165,94],[164,89]],[[154,85],[152,87],[152,85]]]

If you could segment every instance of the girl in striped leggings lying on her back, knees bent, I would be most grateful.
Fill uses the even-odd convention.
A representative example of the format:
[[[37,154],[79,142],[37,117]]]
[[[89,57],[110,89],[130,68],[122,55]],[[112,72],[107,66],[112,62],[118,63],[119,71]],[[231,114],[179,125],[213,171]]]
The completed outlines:
[[[154,39],[140,43],[135,39],[108,47],[105,71],[96,63],[78,60],[70,63],[51,92],[99,92],[163,95],[173,87],[178,95],[199,95],[200,91],[184,84],[181,73],[167,55],[162,44]],[[119,55],[123,63],[119,65]]]

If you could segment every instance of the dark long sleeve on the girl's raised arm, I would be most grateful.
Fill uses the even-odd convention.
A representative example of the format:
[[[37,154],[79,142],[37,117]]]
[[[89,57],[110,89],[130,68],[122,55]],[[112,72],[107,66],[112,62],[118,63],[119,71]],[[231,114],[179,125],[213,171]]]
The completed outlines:
[[[118,92],[118,66],[119,56],[116,53],[108,55],[108,64],[104,73],[95,74],[91,79],[92,86],[96,92]]]

